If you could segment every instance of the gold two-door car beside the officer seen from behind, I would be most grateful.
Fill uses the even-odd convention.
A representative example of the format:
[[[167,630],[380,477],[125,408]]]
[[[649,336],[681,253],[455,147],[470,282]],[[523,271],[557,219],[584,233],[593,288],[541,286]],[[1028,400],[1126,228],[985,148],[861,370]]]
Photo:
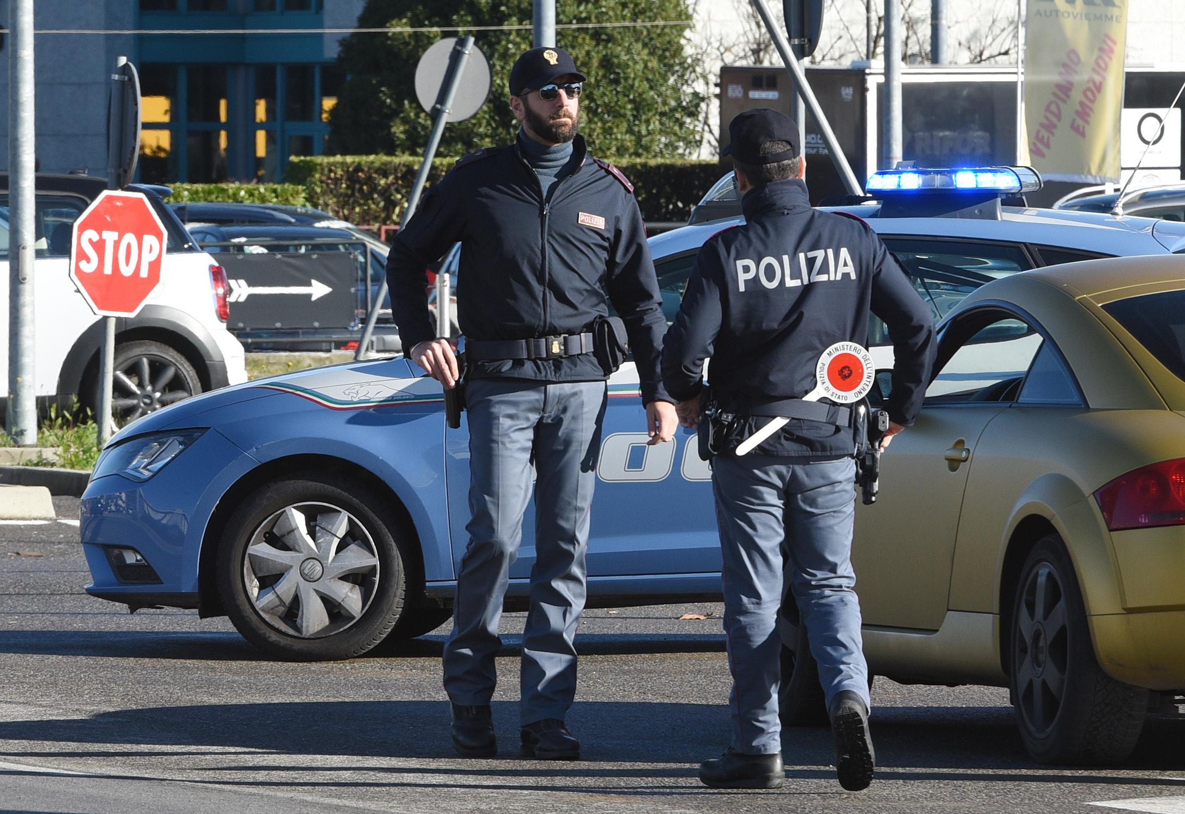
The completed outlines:
[[[1012,275],[940,331],[857,512],[871,672],[1006,686],[1036,759],[1121,761],[1185,701],[1185,257]],[[783,623],[783,722],[816,722]]]

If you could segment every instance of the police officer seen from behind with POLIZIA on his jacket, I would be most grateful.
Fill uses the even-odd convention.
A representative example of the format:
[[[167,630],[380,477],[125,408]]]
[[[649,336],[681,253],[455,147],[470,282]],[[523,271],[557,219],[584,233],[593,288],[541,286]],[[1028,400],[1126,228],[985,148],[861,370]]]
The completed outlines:
[[[700,764],[699,778],[719,788],[777,788],[784,780],[776,624],[784,579],[819,664],[839,781],[858,790],[872,781],[873,750],[850,559],[853,412],[801,398],[815,387],[824,351],[840,341],[866,344],[871,308],[888,323],[896,354],[888,443],[921,406],[934,326],[867,224],[811,207],[789,117],[749,110],[729,133],[725,154],[735,162],[745,223],[699,250],[662,351],[662,378],[684,425],[699,419],[709,357],[713,398],[734,416],[712,461],[732,737],[723,757]],[[737,455],[736,447],[771,416],[790,421]]]

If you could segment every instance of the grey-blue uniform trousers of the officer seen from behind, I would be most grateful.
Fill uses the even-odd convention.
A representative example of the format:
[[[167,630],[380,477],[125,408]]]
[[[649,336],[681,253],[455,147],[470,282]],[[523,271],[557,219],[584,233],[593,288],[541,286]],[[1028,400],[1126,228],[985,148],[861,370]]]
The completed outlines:
[[[712,489],[724,559],[724,633],[732,749],[781,751],[777,614],[789,582],[827,703],[840,690],[869,700],[852,571],[856,461],[718,455]]]

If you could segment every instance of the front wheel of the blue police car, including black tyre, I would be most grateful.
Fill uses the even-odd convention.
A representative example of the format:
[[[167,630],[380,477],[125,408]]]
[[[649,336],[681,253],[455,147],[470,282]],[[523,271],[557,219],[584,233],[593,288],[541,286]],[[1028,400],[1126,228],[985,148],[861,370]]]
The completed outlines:
[[[350,659],[399,621],[406,571],[390,500],[302,473],[249,495],[217,557],[223,605],[243,636],[290,661]]]

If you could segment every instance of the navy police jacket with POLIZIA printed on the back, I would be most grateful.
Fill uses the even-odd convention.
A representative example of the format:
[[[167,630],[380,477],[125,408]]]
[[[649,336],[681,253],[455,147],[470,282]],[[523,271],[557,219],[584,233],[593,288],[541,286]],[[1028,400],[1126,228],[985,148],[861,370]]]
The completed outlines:
[[[889,417],[911,424],[929,382],[934,320],[880,238],[859,218],[813,209],[801,179],[754,187],[741,207],[745,223],[709,238],[696,257],[664,340],[667,392],[698,397],[711,357],[707,379],[726,409],[802,398],[824,351],[866,346],[871,309],[893,345]],[[743,421],[738,438],[769,418]],[[828,460],[854,446],[851,428],[790,419],[754,454]]]

